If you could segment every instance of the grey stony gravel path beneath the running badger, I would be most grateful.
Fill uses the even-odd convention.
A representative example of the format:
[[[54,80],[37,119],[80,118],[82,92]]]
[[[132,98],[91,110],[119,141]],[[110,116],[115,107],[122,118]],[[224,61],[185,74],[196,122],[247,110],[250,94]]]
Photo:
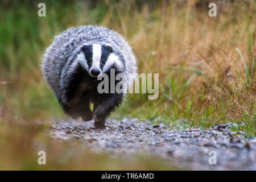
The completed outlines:
[[[245,139],[242,132],[229,129],[234,123],[216,125],[207,130],[169,130],[166,125],[151,125],[138,119],[108,121],[104,130],[93,122],[53,122],[53,138],[77,138],[94,152],[110,155],[157,155],[181,168],[196,170],[256,170],[256,138]],[[217,164],[208,160],[216,152]]]

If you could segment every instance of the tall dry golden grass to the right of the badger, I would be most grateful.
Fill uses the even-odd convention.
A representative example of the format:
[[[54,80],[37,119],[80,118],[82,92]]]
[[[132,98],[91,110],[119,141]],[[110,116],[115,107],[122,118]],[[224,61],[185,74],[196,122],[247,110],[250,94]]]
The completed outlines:
[[[255,121],[255,2],[235,1],[216,18],[208,16],[208,9],[197,9],[197,2],[162,1],[156,9],[148,5],[141,10],[121,4],[113,9],[122,12],[119,32],[134,47],[139,71],[159,73],[160,96],[172,98],[157,105],[168,108],[164,113],[173,115],[176,105],[178,115],[205,120],[209,111],[207,119],[213,121],[208,126],[243,121],[245,115]],[[188,106],[192,112],[186,113]]]

